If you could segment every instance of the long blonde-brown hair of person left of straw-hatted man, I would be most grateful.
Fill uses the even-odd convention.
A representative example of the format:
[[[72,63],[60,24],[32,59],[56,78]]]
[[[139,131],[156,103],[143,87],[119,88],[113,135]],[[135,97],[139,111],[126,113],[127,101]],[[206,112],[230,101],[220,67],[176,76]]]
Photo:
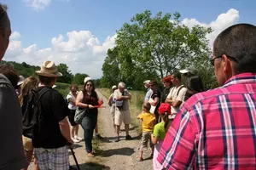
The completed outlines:
[[[19,100],[20,100],[20,105],[23,105],[23,98],[24,96],[28,95],[30,93],[30,91],[32,89],[38,88],[38,78],[36,77],[27,77],[23,84],[21,85],[21,89],[20,89],[20,96],[19,96]]]

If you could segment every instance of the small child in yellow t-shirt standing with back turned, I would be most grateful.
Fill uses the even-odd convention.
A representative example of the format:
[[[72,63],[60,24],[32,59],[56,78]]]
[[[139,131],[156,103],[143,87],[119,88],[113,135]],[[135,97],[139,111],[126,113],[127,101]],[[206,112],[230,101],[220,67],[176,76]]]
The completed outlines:
[[[142,119],[143,121],[143,139],[140,146],[141,154],[139,156],[139,161],[143,161],[143,151],[148,149],[148,140],[150,142],[150,148],[152,150],[151,156],[154,154],[154,144],[151,141],[151,134],[154,130],[154,124],[156,123],[156,119],[154,114],[150,113],[151,105],[146,103],[143,105],[143,113],[137,116],[138,119]]]

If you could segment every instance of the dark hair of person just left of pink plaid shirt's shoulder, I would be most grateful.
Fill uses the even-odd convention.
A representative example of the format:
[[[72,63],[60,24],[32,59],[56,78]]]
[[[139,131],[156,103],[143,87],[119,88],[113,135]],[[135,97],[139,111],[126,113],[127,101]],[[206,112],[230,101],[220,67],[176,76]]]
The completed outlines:
[[[201,81],[200,76],[188,77],[186,86],[189,90],[195,93],[200,93],[204,91],[204,85],[203,82]]]

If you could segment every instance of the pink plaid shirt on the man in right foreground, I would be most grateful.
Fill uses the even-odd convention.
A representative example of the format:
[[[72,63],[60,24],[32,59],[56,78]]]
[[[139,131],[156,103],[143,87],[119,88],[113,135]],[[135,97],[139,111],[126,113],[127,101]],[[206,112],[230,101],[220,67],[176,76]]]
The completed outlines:
[[[195,94],[166,133],[157,160],[166,169],[256,169],[256,74]]]

